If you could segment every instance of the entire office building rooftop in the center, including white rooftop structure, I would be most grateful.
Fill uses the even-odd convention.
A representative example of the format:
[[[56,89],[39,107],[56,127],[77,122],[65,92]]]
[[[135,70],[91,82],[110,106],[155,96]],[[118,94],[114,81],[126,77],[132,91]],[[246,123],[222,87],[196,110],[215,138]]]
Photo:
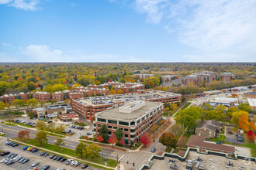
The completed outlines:
[[[135,104],[137,104],[137,102],[143,102],[144,104],[140,104],[140,107],[136,107]],[[139,105],[139,103],[137,105]],[[99,112],[95,114],[95,117],[106,117],[106,118],[114,118],[114,119],[118,118],[121,120],[131,121],[131,120],[136,120],[137,118],[143,116],[144,114],[146,114],[148,110],[154,109],[154,107],[159,107],[159,106],[161,106],[160,102],[149,102],[149,101],[129,102],[128,104],[125,104],[122,107],[113,107],[112,109]],[[123,111],[123,110],[129,110],[128,107],[132,109],[130,111]]]

